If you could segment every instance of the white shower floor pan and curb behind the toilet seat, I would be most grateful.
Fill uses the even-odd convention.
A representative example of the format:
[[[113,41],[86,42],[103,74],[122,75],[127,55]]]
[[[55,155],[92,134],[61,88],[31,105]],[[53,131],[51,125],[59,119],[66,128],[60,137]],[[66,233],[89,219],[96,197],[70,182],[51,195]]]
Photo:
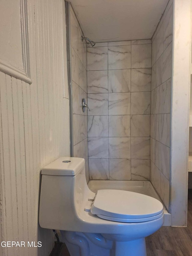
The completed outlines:
[[[130,181],[130,180],[90,180],[88,187],[96,193],[99,189],[119,189],[141,193],[158,199],[162,204],[161,198],[158,196],[155,188],[150,181]],[[168,213],[164,206],[164,224],[163,226],[171,226],[171,214]]]

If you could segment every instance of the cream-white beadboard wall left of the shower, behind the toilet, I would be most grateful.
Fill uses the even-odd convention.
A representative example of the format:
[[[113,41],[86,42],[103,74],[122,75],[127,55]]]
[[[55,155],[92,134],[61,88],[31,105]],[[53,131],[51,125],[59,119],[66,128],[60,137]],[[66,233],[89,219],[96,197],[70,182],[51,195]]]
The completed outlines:
[[[28,1],[32,84],[0,72],[0,255],[47,256],[52,230],[38,224],[41,168],[70,155],[64,1]],[[51,189],[51,188],[50,188]]]

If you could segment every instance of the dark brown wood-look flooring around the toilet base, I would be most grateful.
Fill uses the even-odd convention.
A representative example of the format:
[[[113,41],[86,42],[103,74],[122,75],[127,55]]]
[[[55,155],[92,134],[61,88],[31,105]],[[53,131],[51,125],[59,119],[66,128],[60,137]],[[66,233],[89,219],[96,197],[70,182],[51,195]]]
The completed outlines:
[[[187,227],[161,227],[146,237],[147,256],[192,256],[192,189],[188,191]],[[63,244],[60,254],[70,256]],[[135,255],[137,256],[137,255]]]

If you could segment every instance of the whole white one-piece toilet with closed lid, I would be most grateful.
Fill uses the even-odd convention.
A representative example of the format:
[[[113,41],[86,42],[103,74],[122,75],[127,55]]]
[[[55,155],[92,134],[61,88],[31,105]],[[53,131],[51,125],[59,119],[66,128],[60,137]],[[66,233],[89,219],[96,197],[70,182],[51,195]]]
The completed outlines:
[[[85,179],[83,158],[61,157],[41,171],[39,224],[60,230],[71,256],[146,256],[145,237],[164,223],[162,203]]]

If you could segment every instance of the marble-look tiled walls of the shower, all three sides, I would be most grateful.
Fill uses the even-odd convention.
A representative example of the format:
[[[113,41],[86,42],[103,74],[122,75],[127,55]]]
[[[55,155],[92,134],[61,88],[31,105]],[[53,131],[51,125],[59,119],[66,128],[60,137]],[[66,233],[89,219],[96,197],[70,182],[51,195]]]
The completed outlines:
[[[172,27],[170,1],[152,39],[91,47],[70,6],[73,156],[85,158],[87,182],[150,180],[167,209]]]

